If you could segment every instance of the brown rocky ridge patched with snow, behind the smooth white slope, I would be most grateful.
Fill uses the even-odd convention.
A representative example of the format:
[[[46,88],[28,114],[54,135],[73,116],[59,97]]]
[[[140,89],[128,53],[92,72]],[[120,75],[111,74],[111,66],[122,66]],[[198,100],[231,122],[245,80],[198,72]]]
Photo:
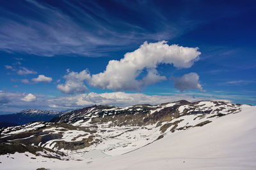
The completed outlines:
[[[157,141],[165,141],[166,136],[204,129],[212,122],[229,115],[234,117],[248,108],[255,106],[223,101],[177,101],[127,107],[93,105],[58,115],[51,122],[2,128],[0,144],[4,147],[17,143],[26,145],[22,152],[26,152],[26,148],[27,152],[38,150],[29,146],[42,148],[40,150],[47,148],[48,155],[54,154],[61,160],[67,160],[68,157],[71,162],[81,160],[88,163],[92,162],[93,157],[104,159],[127,155]],[[60,155],[65,157],[61,158]],[[44,157],[42,154],[36,157],[41,156]]]

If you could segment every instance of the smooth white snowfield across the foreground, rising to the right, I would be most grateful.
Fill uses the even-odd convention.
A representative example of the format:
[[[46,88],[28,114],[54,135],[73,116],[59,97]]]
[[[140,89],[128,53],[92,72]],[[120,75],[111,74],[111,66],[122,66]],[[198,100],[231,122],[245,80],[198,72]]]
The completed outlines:
[[[256,106],[243,105],[241,110],[186,131],[170,132],[170,127],[162,139],[149,145],[138,141],[140,148],[135,150],[127,145],[124,150],[120,147],[110,154],[111,151],[102,152],[106,147],[102,143],[90,152],[71,152],[74,159],[70,160],[16,152],[0,155],[0,169],[256,169]],[[203,122],[204,118],[198,121],[196,117],[187,115],[175,121],[184,119],[179,126]],[[132,133],[131,136],[136,136]],[[152,130],[148,136],[156,136],[154,133]],[[106,145],[115,143],[113,140],[117,139],[109,139]]]

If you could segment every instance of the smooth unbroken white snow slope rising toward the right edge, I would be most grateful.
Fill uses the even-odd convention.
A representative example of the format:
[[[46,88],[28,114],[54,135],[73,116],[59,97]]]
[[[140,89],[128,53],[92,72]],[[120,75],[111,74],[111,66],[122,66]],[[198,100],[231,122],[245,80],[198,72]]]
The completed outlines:
[[[87,169],[256,169],[256,107],[204,127],[168,133],[140,150],[95,160]],[[79,169],[79,167],[77,167]]]

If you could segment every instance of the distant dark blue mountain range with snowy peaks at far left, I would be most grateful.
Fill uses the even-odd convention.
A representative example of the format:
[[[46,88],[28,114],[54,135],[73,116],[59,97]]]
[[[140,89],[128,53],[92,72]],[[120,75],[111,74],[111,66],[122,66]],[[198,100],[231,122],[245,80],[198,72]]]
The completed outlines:
[[[27,109],[19,113],[0,115],[0,128],[24,125],[35,121],[49,121],[54,117],[58,117],[61,113],[63,112]]]

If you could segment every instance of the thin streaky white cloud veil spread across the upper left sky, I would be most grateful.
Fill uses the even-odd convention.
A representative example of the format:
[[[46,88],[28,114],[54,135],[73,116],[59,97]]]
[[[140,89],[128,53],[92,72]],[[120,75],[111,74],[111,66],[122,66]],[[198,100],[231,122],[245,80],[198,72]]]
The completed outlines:
[[[179,22],[170,21],[156,8],[147,8],[147,3],[124,5],[116,1],[133,20],[125,20],[118,11],[111,12],[95,1],[62,3],[61,8],[39,1],[17,4],[36,17],[1,8],[7,15],[0,17],[0,49],[42,56],[78,54],[94,57],[145,40],[171,39],[196,25],[195,20],[190,22],[184,14],[179,16],[181,13],[177,14],[182,18]],[[148,17],[150,20],[145,20]]]

